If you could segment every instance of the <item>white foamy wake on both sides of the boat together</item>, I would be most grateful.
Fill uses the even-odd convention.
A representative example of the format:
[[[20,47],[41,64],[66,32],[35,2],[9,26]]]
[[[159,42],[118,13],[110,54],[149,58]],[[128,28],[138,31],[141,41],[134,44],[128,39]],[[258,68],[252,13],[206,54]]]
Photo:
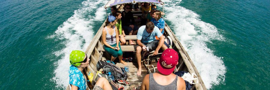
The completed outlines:
[[[165,2],[165,20],[170,21],[170,28],[187,50],[190,58],[197,67],[207,89],[212,85],[219,85],[225,80],[226,68],[222,58],[213,54],[206,46],[211,40],[223,40],[217,28],[209,23],[202,22],[199,15],[184,7],[177,6],[180,1],[163,0]],[[65,88],[68,85],[69,54],[72,50],[85,51],[90,44],[96,22],[105,19],[106,12],[103,8],[107,0],[83,1],[82,6],[74,11],[74,15],[67,19],[50,37],[60,37],[66,47],[55,52],[56,56],[62,56],[55,65],[57,66],[52,78],[56,87]],[[95,13],[93,15],[92,13]],[[179,33],[176,33],[179,32]]]

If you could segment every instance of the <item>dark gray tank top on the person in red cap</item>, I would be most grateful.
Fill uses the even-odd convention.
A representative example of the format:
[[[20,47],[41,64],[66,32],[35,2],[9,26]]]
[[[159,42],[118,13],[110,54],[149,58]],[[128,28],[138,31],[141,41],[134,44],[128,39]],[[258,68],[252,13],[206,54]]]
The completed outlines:
[[[169,85],[160,85],[155,81],[153,73],[149,75],[149,90],[177,90],[177,79],[176,75],[175,79]]]

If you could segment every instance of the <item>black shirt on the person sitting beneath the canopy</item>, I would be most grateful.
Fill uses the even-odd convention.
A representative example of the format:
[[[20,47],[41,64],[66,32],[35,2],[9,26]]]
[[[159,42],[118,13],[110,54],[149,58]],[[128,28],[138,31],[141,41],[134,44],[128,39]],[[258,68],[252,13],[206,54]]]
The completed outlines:
[[[134,17],[131,11],[128,11],[128,13],[126,13],[124,10],[121,14],[122,26],[135,25]]]

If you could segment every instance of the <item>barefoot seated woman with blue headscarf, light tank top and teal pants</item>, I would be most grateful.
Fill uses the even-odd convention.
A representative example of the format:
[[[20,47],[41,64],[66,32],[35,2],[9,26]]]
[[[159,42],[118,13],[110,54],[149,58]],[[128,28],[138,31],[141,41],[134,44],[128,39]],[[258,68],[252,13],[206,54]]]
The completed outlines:
[[[121,46],[119,45],[118,30],[115,27],[116,17],[108,16],[105,22],[105,26],[102,30],[102,41],[104,43],[104,49],[106,52],[112,55],[111,61],[114,61],[116,57],[119,58],[120,63],[127,65],[125,61],[122,60],[123,52]],[[116,37],[117,36],[117,37]]]

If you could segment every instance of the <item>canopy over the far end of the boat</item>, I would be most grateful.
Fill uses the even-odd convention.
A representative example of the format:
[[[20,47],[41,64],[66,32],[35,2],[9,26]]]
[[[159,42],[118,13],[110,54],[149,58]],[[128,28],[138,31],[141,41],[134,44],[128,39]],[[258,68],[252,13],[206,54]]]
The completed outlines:
[[[104,8],[112,7],[119,4],[126,4],[126,3],[136,4],[137,2],[148,2],[148,3],[156,3],[156,4],[162,4],[162,5],[164,4],[161,0],[110,0],[104,6]]]

